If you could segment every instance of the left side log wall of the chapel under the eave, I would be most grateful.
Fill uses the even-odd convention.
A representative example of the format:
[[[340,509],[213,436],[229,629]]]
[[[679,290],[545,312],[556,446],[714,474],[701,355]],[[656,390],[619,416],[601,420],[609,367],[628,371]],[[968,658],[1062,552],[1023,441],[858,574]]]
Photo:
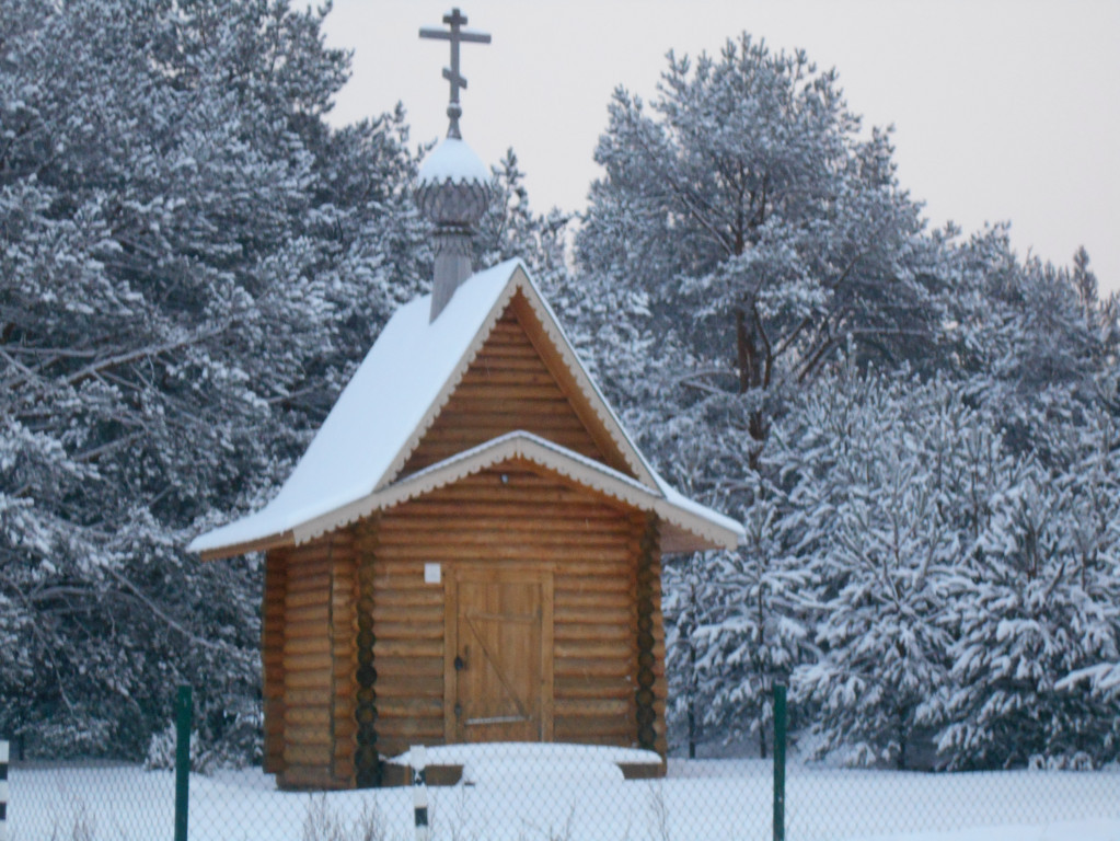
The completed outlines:
[[[265,721],[272,761],[280,750],[277,782],[282,788],[351,787],[357,730],[353,532],[339,530],[301,546],[273,550],[269,560],[283,570],[279,665],[277,635],[268,625],[264,653],[267,691],[274,692],[282,681],[280,733],[277,708],[265,713],[273,713]],[[280,587],[265,588],[267,616],[277,613]]]

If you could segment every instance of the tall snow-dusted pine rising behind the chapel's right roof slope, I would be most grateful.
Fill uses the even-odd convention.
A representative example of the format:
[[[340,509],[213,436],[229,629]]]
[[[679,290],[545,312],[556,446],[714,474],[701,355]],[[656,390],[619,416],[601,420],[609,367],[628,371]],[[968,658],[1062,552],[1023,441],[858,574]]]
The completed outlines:
[[[760,487],[745,477],[790,393],[847,353],[887,366],[941,353],[941,243],[923,234],[892,155],[888,132],[861,134],[834,73],[747,35],[715,57],[670,54],[652,106],[624,90],[610,103],[596,150],[605,175],[577,237],[590,347],[659,467],[743,520]],[[685,438],[703,451],[682,457]],[[741,643],[719,635],[728,653],[783,626],[783,588],[764,581],[785,573],[763,545],[713,561],[755,592],[738,608]],[[731,628],[727,591],[712,598],[700,625]],[[670,650],[671,671],[689,651]],[[763,655],[766,671],[720,695],[716,730],[758,730],[785,656]]]

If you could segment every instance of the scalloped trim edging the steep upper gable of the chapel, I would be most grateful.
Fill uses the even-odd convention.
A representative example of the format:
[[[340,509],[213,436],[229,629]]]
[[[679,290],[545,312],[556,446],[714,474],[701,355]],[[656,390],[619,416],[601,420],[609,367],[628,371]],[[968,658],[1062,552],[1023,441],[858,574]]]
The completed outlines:
[[[626,430],[623,429],[622,423],[618,418],[615,417],[614,411],[610,409],[610,404],[607,403],[607,399],[599,391],[599,387],[595,384],[595,381],[588,376],[587,371],[584,368],[584,364],[579,361],[576,355],[576,351],[572,348],[571,343],[564,335],[563,328],[560,327],[560,323],[557,320],[556,314],[549,306],[548,301],[541,297],[536,287],[533,284],[532,279],[529,277],[524,267],[519,262],[514,267],[513,273],[510,275],[510,280],[502,290],[502,293],[495,300],[494,306],[491,307],[489,312],[483,320],[482,326],[478,328],[478,333],[475,334],[474,339],[467,346],[464,352],[463,357],[459,359],[459,364],[455,366],[451,375],[447,379],[444,387],[440,389],[439,394],[432,401],[428,411],[420,419],[417,428],[413,430],[412,434],[401,447],[396,457],[390,462],[389,469],[385,470],[385,475],[381,477],[375,486],[375,490],[386,487],[400,475],[401,469],[404,467],[409,457],[416,451],[416,448],[420,446],[420,441],[428,433],[431,424],[436,422],[440,412],[444,411],[444,407],[451,399],[455,390],[458,387],[459,383],[463,381],[464,375],[467,373],[467,368],[478,356],[478,352],[482,351],[483,345],[491,337],[494,330],[494,326],[497,324],[498,319],[502,318],[502,314],[505,312],[506,307],[513,300],[513,296],[520,291],[525,300],[529,302],[530,308],[533,310],[534,315],[540,319],[541,327],[544,334],[552,342],[552,346],[560,354],[560,358],[563,361],[568,373],[576,381],[576,387],[579,389],[580,393],[587,400],[588,405],[595,415],[599,419],[603,428],[606,430],[610,440],[614,441],[615,446],[618,448],[626,464],[629,466],[634,474],[650,488],[654,488],[659,494],[663,495],[663,489],[661,484],[657,482],[656,474],[646,462],[645,458],[642,456],[641,450],[634,445],[626,434]],[[419,474],[417,474],[419,475]]]

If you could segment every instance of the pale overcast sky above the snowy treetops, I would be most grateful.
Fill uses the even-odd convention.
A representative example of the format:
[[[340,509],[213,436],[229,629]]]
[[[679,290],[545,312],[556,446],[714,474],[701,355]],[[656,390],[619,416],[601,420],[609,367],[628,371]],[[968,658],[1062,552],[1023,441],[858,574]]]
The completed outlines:
[[[333,119],[408,111],[442,137],[446,0],[335,0],[332,46],[354,50]],[[717,53],[743,30],[836,67],[865,125],[895,125],[902,185],[933,225],[1009,221],[1020,254],[1084,244],[1120,290],[1120,0],[463,0],[463,137],[486,163],[513,147],[530,200],[579,209],[612,91],[652,99],[665,53]]]

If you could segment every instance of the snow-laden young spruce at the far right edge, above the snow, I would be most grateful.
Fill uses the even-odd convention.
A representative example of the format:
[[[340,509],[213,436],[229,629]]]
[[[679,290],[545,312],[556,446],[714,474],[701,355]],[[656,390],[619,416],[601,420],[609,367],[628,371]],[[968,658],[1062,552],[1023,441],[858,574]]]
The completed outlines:
[[[940,748],[952,767],[1120,755],[1108,683],[1120,658],[1117,419],[1098,409],[1042,434],[1063,469],[1024,459],[946,589],[955,689]]]

